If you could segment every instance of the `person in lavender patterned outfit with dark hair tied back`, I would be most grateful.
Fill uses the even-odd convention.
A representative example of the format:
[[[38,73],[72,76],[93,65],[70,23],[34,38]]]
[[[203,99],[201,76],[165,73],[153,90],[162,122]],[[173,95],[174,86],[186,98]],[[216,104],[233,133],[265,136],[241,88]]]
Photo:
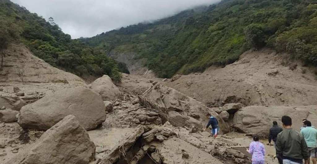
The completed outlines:
[[[264,164],[265,148],[263,143],[259,142],[259,137],[257,135],[253,136],[253,142],[250,143],[247,152],[252,155],[252,164]]]

